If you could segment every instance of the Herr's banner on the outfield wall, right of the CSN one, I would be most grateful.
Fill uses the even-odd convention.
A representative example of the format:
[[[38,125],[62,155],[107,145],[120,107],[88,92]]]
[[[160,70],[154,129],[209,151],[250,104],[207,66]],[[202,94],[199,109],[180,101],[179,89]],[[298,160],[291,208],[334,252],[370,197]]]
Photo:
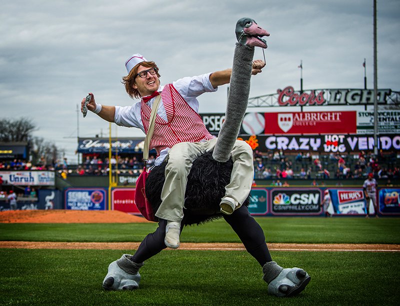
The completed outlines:
[[[365,215],[366,202],[362,188],[328,189],[334,214]],[[371,212],[371,211],[370,211]]]

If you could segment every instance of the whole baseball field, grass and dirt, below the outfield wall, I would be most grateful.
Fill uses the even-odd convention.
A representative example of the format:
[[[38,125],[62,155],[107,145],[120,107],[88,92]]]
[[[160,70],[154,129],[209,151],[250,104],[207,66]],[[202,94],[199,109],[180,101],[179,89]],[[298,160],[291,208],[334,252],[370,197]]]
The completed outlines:
[[[0,305],[398,305],[400,219],[256,218],[273,260],[311,282],[267,294],[255,260],[223,220],[191,226],[178,250],[140,269],[133,292],[106,292],[107,266],[155,223],[120,212],[0,212]]]

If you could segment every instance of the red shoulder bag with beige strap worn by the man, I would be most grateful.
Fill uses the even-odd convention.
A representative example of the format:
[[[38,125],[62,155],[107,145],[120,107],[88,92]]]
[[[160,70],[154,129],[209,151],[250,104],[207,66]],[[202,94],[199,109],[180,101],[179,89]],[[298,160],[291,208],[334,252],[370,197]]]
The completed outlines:
[[[157,112],[160,100],[161,100],[161,95],[158,95],[155,98],[153,107],[151,109],[148,131],[146,137],[144,138],[144,145],[143,145],[144,168],[136,180],[136,189],[134,193],[134,203],[136,204],[137,209],[140,211],[140,213],[143,215],[144,218],[146,218],[148,221],[153,221],[153,222],[156,222],[155,216],[151,204],[148,202],[146,198],[146,192],[145,192],[146,179],[148,176],[148,172],[146,169],[146,162],[148,161],[148,147],[150,144],[151,136],[153,135],[154,131],[155,114]]]

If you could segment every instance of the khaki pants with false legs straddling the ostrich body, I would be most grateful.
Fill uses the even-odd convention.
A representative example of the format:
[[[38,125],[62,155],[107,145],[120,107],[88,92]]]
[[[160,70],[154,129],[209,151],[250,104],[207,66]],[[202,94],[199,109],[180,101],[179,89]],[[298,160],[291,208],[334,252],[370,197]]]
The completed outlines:
[[[215,143],[216,138],[205,142],[181,142],[169,150],[165,183],[161,191],[162,202],[155,213],[156,217],[174,222],[182,220],[184,193],[192,162],[202,153],[211,150]],[[233,169],[230,182],[225,186],[224,197],[233,199],[239,207],[250,193],[254,177],[253,154],[247,143],[236,140],[230,156]]]

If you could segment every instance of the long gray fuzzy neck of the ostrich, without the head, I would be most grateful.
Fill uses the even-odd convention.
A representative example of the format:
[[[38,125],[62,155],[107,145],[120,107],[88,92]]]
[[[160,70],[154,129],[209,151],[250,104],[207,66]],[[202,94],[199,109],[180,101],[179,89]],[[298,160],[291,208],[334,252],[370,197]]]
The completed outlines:
[[[240,125],[247,109],[253,56],[254,47],[236,43],[225,121],[219,131],[212,153],[212,157],[218,162],[226,162],[229,159],[229,154],[239,134]]]

